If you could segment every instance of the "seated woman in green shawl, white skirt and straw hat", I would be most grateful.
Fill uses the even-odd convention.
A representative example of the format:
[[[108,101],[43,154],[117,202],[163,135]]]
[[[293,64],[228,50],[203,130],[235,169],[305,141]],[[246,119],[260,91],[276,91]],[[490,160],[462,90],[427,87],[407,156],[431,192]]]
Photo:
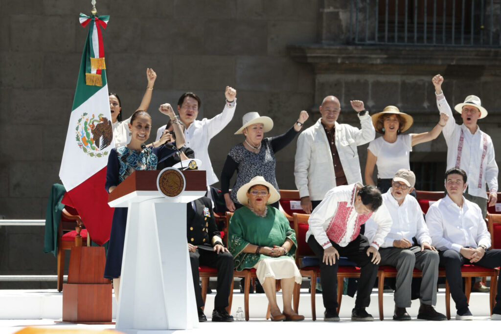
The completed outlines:
[[[237,209],[229,222],[228,249],[233,254],[235,269],[256,268],[270,303],[272,321],[303,320],[305,317],[292,308],[294,285],[301,283],[301,273],[293,259],[296,234],[286,216],[268,205],[280,199],[278,190],[263,176],[256,176],[238,189],[236,197],[244,207]],[[283,312],[277,304],[277,279],[281,280]]]

